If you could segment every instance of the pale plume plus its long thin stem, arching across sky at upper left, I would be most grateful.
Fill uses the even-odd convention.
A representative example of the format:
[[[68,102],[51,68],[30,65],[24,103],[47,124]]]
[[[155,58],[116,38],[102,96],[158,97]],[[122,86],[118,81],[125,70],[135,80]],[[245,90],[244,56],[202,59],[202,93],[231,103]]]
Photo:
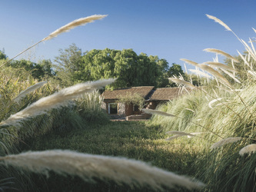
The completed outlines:
[[[24,51],[18,53],[18,55],[15,55],[13,58],[9,59],[8,61],[5,61],[5,63],[3,63],[0,66],[0,68],[3,65],[7,64],[8,62],[12,61],[13,59],[17,58],[19,55],[22,55],[25,51],[28,51],[29,49],[35,47],[35,45],[38,45],[42,41],[50,40],[51,38],[55,38],[58,35],[60,35],[61,33],[67,32],[67,31],[71,30],[72,28],[78,27],[80,25],[85,25],[85,24],[90,23],[90,22],[94,22],[95,20],[98,20],[98,19],[101,19],[101,18],[105,18],[106,16],[108,16],[108,15],[91,15],[91,16],[86,17],[86,18],[78,18],[75,21],[70,22],[67,25],[62,26],[61,28],[58,28],[57,30],[53,31],[50,35],[48,35],[46,38],[43,38],[41,41],[38,41],[34,45],[26,48]]]

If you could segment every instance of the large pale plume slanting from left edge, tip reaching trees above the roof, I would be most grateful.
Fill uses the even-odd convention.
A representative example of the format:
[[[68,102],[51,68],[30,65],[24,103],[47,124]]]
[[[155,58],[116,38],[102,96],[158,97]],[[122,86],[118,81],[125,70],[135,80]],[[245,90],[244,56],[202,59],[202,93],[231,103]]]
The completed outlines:
[[[81,84],[75,84],[74,86],[64,88],[55,94],[51,94],[45,98],[41,98],[35,103],[29,105],[27,108],[19,111],[16,114],[12,114],[8,119],[2,121],[0,125],[16,124],[19,125],[20,121],[25,118],[31,118],[39,114],[45,114],[46,111],[52,108],[59,108],[61,106],[68,105],[69,101],[74,98],[78,98],[81,94],[86,92],[100,89],[115,81],[113,78],[102,79],[98,81],[91,81]]]

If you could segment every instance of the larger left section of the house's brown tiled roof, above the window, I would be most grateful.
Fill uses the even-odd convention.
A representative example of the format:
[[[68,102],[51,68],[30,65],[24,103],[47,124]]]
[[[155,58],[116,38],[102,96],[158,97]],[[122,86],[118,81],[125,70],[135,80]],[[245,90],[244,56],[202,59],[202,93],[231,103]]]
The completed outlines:
[[[102,96],[104,97],[104,100],[115,100],[115,99],[118,99],[118,97],[125,96],[127,94],[140,94],[141,97],[148,100],[153,89],[154,89],[154,86],[121,88],[121,89],[116,89],[114,91],[104,91]]]

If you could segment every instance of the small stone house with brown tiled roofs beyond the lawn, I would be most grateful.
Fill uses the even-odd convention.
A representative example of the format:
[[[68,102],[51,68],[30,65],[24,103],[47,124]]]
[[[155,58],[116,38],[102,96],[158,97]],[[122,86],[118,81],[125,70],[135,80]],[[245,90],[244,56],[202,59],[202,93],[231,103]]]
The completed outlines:
[[[128,117],[131,115],[142,114],[142,112],[135,104],[124,104],[118,102],[121,97],[138,94],[145,99],[144,108],[155,109],[158,104],[170,101],[184,93],[185,91],[181,91],[181,88],[155,89],[154,86],[121,88],[114,91],[103,92],[102,96],[104,100],[102,108],[104,108],[112,118]]]

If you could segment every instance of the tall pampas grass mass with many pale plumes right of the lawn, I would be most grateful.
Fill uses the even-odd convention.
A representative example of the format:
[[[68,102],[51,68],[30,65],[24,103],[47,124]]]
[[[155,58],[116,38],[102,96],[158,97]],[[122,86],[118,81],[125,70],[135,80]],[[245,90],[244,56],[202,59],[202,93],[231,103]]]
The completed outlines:
[[[223,25],[238,38],[238,35],[220,19],[211,15],[207,16]],[[215,48],[208,48],[204,51],[224,55],[231,59],[232,66],[216,65],[218,58],[213,62],[205,62],[205,65],[182,59],[194,65],[197,70],[211,75],[213,79],[210,85],[204,88],[194,88],[196,91],[183,95],[177,100],[169,101],[168,104],[158,108],[159,111],[173,114],[172,117],[155,114],[151,119],[151,124],[161,124],[162,129],[169,131],[168,133],[176,133],[170,131],[184,131],[186,134],[203,132],[200,137],[192,137],[192,139],[204,142],[204,153],[198,157],[193,166],[197,167],[194,176],[207,184],[205,188],[207,191],[256,190],[256,154],[254,154],[256,151],[254,147],[256,139],[254,114],[256,111],[256,78],[254,75],[256,51],[251,39],[250,45],[240,38],[238,41],[241,41],[247,51],[245,55],[238,52],[243,71],[241,68],[239,70],[234,68],[234,62],[238,62],[237,58]],[[233,70],[230,69],[229,74],[224,71],[228,68],[233,68]],[[234,81],[228,81],[227,74]],[[246,81],[240,79],[244,74],[248,77]],[[188,82],[183,83],[177,78],[175,82],[188,87]],[[172,139],[178,140],[179,137],[173,136],[169,142],[172,142]]]

